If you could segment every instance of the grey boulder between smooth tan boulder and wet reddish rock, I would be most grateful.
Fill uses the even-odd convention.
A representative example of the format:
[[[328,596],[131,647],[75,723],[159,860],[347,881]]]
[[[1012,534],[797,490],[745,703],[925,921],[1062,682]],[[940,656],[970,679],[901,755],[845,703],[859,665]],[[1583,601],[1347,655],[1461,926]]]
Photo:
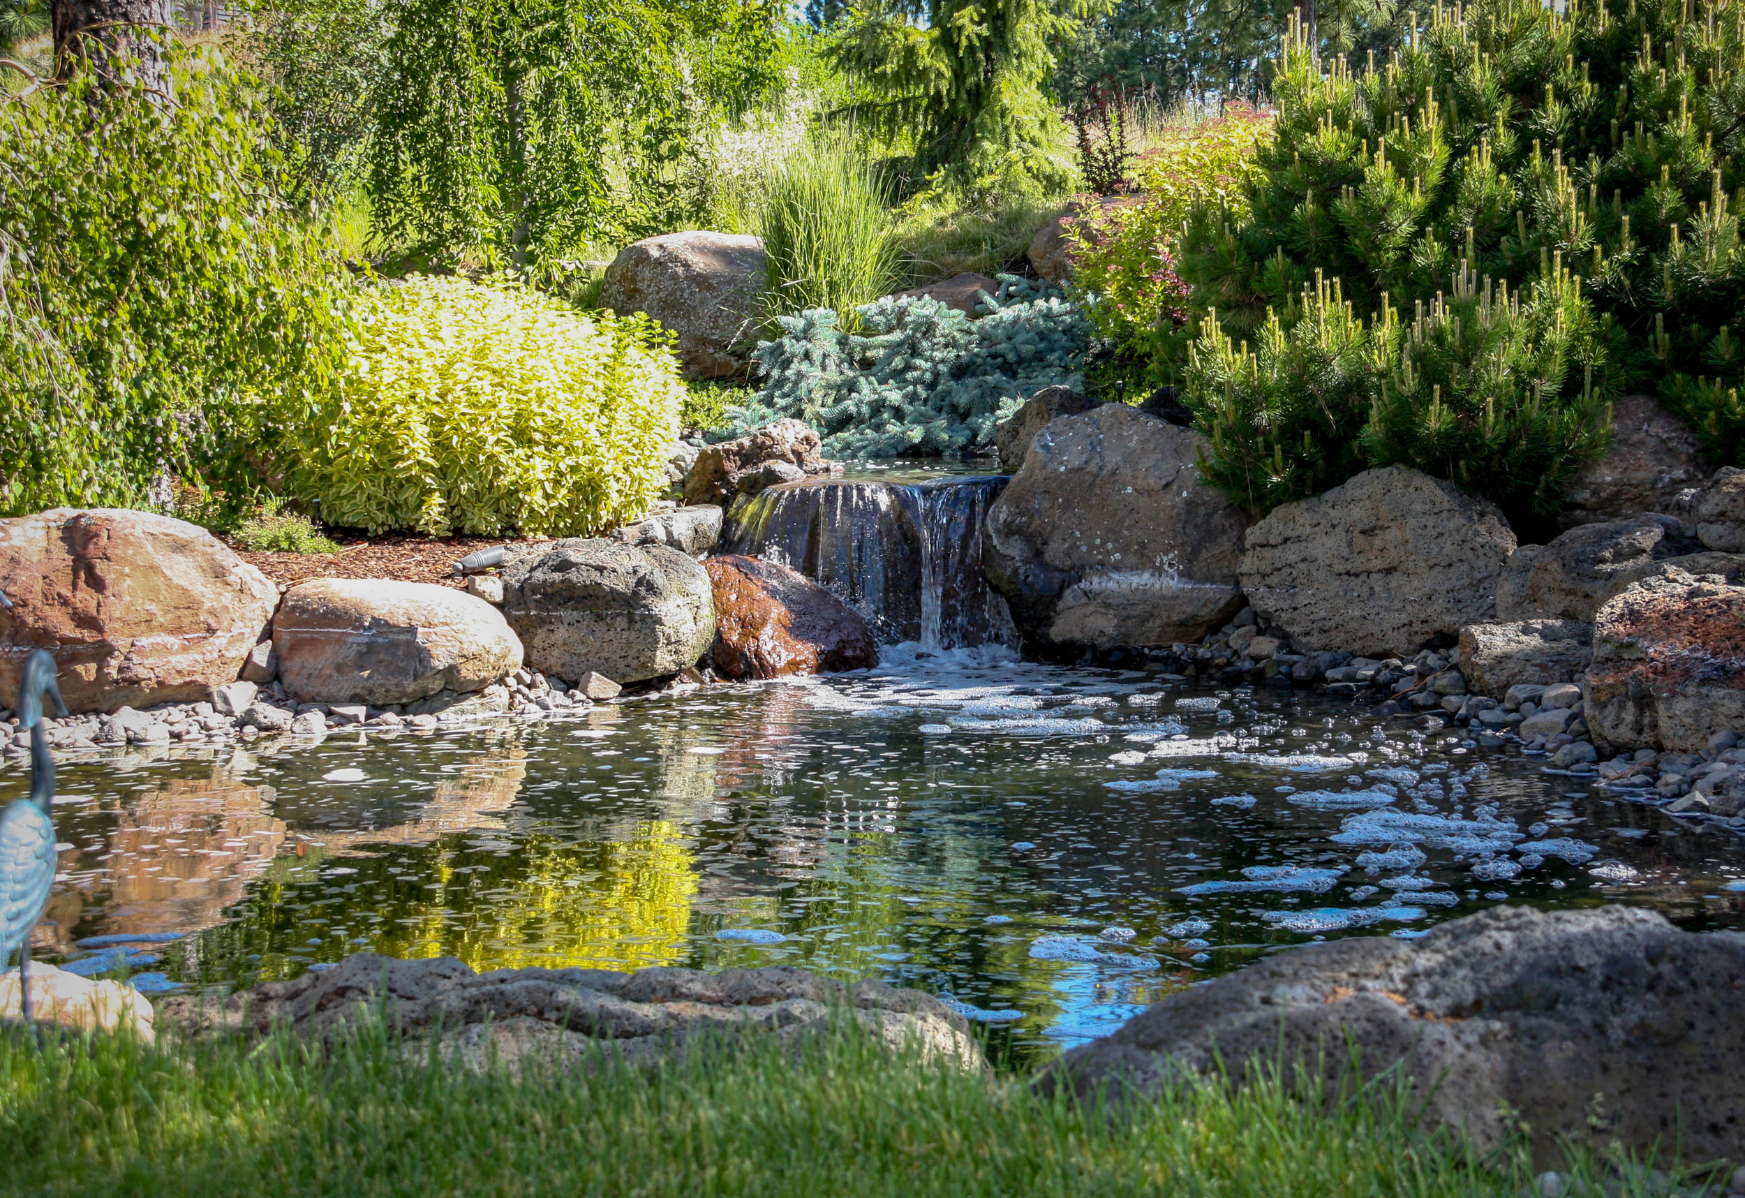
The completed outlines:
[[[503,568],[503,615],[527,667],[618,683],[677,674],[715,639],[708,573],[670,545],[576,538]]]

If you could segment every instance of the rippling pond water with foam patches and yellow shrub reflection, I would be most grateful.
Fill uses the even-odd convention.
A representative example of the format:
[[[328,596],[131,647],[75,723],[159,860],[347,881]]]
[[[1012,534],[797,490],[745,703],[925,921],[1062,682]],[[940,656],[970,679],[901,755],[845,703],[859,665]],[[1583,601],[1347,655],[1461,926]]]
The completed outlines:
[[[40,955],[147,985],[366,948],[787,964],[951,995],[1030,1058],[1265,954],[1501,901],[1745,927],[1738,838],[1543,770],[1302,693],[897,646],[544,723],[66,760]]]

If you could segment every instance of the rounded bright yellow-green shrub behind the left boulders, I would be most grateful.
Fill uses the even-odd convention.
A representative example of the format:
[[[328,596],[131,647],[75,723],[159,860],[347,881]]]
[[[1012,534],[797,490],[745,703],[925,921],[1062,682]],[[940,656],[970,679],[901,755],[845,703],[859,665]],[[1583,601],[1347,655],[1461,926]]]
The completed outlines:
[[[665,489],[682,403],[647,318],[421,276],[359,304],[340,386],[284,414],[286,491],[372,533],[599,533]]]

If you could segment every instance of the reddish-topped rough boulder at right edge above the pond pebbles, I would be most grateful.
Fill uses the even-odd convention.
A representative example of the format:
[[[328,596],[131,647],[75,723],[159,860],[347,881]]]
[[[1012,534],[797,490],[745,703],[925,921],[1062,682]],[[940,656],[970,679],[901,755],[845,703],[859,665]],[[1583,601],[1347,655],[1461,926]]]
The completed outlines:
[[[1673,573],[1607,601],[1581,690],[1602,749],[1701,753],[1745,728],[1745,587]]]

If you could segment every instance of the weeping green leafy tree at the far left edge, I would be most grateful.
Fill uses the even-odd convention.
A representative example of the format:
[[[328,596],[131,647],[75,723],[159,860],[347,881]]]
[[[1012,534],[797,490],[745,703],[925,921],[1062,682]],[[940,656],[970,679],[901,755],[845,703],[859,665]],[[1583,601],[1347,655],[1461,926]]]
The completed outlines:
[[[211,47],[162,54],[174,103],[87,65],[0,96],[0,513],[171,477],[246,501],[257,416],[337,370],[347,285],[281,196],[258,91]]]

